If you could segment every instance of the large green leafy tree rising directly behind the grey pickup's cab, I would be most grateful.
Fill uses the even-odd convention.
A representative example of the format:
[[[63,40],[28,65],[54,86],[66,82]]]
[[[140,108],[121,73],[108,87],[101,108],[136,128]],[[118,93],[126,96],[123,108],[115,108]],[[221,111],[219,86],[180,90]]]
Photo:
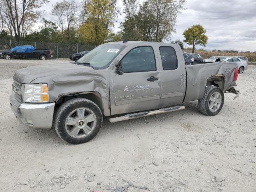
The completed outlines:
[[[146,0],[137,11],[136,0],[124,0],[121,34],[128,40],[162,42],[174,32],[177,13],[185,0]],[[132,9],[133,8],[133,9]]]

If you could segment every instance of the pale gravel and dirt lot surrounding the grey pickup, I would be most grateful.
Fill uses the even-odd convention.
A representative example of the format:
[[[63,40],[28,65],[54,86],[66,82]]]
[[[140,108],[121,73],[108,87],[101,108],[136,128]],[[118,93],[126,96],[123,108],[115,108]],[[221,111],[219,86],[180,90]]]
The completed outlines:
[[[9,108],[18,68],[64,60],[0,60],[0,191],[111,192],[128,180],[154,192],[256,191],[256,66],[238,75],[220,114],[186,110],[111,124],[80,145],[20,125]],[[65,60],[67,61],[67,60]],[[128,188],[128,192],[145,190]]]

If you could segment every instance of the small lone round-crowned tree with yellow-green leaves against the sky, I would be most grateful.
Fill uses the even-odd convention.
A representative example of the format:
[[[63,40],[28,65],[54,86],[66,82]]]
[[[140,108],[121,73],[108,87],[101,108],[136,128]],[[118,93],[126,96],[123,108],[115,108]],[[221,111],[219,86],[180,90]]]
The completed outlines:
[[[185,38],[184,42],[193,46],[192,53],[194,53],[196,45],[205,46],[205,44],[207,44],[208,37],[205,33],[206,30],[200,24],[193,25],[183,32],[183,36]]]

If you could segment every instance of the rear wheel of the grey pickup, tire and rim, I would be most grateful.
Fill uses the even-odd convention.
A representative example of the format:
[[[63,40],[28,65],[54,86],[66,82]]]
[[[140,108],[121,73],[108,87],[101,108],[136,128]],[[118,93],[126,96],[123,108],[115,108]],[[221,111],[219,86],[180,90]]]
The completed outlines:
[[[198,100],[198,109],[202,114],[214,116],[220,112],[224,104],[223,91],[215,86],[205,88],[204,96]]]

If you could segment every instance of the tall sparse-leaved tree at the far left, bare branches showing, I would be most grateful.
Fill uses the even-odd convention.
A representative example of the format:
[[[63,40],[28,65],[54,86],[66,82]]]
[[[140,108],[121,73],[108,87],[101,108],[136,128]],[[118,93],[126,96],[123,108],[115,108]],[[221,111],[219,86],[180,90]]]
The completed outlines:
[[[19,41],[40,17],[40,12],[36,9],[47,2],[48,0],[2,0],[2,26],[8,28],[11,35],[14,33],[16,41]]]

